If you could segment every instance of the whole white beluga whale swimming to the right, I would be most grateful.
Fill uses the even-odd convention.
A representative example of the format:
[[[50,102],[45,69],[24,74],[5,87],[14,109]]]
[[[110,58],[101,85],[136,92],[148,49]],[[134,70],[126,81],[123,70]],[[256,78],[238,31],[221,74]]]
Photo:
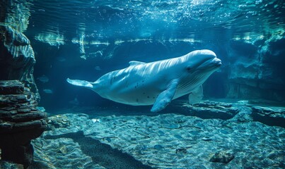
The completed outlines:
[[[220,66],[216,54],[204,49],[151,63],[130,61],[129,67],[106,73],[95,82],[66,81],[121,104],[153,105],[151,112],[158,112],[173,99],[201,89]]]

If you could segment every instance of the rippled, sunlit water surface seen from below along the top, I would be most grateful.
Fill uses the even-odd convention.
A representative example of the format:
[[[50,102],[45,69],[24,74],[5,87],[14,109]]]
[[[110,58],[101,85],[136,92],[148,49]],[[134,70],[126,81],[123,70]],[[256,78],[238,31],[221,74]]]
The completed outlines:
[[[228,41],[284,26],[283,1],[34,1],[28,30],[66,40]],[[40,30],[40,31],[39,31]],[[218,38],[217,38],[218,37]]]

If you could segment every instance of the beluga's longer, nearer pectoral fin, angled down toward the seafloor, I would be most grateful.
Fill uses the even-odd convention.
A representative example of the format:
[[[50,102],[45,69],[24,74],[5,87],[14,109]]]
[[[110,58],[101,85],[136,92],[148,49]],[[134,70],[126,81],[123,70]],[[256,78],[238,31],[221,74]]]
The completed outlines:
[[[168,85],[168,88],[161,92],[161,94],[159,94],[156,98],[156,101],[151,108],[151,112],[161,111],[163,108],[168,106],[168,104],[170,104],[170,101],[173,99],[177,87],[178,80],[171,81]]]

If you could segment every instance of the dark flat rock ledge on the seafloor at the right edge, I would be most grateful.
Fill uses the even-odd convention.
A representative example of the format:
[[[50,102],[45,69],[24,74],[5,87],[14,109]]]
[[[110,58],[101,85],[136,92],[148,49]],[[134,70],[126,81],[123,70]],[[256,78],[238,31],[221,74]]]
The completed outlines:
[[[285,108],[253,106],[252,118],[266,125],[285,127]]]

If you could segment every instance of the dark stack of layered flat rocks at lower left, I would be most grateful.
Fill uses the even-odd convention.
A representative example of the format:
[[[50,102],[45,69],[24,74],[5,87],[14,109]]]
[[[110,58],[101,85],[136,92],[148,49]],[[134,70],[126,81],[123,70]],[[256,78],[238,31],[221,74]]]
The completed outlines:
[[[35,95],[18,80],[0,81],[1,160],[23,164],[33,161],[31,139],[47,127],[47,114],[38,111]]]

